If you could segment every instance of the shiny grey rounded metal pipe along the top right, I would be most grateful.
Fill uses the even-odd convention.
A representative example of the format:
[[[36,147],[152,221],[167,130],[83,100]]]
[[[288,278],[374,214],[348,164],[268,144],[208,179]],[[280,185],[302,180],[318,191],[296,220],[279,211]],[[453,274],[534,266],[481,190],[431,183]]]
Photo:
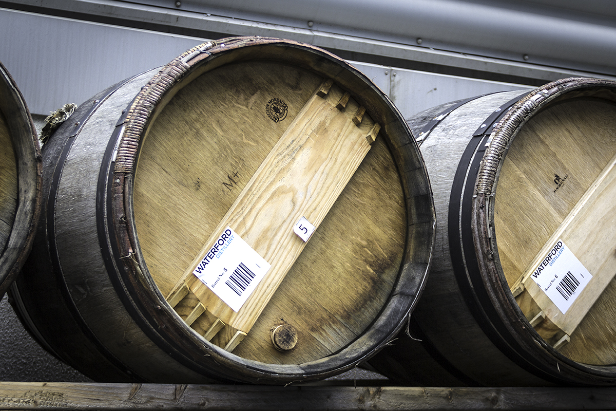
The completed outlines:
[[[583,8],[513,2],[459,0],[186,0],[182,9],[227,12],[227,17],[340,31],[463,52],[534,62],[545,59],[614,67],[614,3],[585,2]],[[166,1],[168,3],[168,1]],[[513,4],[511,4],[513,3]],[[152,2],[148,2],[152,4]],[[515,8],[514,8],[515,7]],[[583,10],[583,11],[582,11]],[[611,21],[611,23],[610,23]],[[449,47],[447,47],[449,46]],[[507,55],[509,54],[509,55]]]

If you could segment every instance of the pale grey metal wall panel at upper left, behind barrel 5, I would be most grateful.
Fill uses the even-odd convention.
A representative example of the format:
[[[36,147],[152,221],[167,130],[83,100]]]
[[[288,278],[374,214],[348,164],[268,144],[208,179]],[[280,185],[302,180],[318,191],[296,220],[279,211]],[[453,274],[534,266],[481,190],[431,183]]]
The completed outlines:
[[[31,113],[81,104],[203,39],[0,9],[0,61]]]

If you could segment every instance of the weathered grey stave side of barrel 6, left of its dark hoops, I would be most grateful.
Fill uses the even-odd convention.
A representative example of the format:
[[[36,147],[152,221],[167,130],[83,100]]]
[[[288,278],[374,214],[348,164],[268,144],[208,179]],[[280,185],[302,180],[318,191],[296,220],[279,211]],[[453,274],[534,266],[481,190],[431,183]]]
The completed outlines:
[[[490,385],[490,381],[492,384],[499,381],[499,385],[524,384],[520,381],[526,381],[526,385],[546,384],[545,380],[519,367],[487,338],[466,303],[464,289],[453,272],[450,256],[448,206],[460,158],[481,122],[496,107],[519,94],[496,93],[472,100],[454,110],[421,143],[420,149],[431,178],[437,213],[434,263],[424,293],[413,312],[413,317],[425,335],[411,330],[413,338],[410,338],[400,333],[391,346],[370,361],[380,373],[391,375],[391,378],[403,381],[404,384],[437,385],[443,378],[440,375],[447,375],[448,380],[452,378],[448,375],[447,367],[458,370],[458,377],[466,377],[459,382],[460,385]],[[413,134],[418,135],[423,126],[447,106],[427,110],[409,119]],[[425,352],[423,359],[416,359],[415,353],[419,355],[424,352],[421,344],[431,348],[429,352],[434,353],[435,349],[440,352],[447,359],[447,367],[441,368],[441,364],[429,357],[428,352]],[[396,363],[399,363],[398,367],[392,365]],[[424,368],[429,370],[428,373],[423,373]]]

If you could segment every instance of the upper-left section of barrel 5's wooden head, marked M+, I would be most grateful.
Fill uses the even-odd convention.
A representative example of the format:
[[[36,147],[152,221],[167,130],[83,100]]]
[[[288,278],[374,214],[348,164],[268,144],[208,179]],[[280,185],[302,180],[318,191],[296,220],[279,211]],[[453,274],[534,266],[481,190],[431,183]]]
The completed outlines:
[[[236,64],[190,83],[158,115],[135,174],[135,220],[150,274],[168,295],[322,78]],[[265,114],[272,98],[284,121]],[[198,222],[198,226],[195,226]]]

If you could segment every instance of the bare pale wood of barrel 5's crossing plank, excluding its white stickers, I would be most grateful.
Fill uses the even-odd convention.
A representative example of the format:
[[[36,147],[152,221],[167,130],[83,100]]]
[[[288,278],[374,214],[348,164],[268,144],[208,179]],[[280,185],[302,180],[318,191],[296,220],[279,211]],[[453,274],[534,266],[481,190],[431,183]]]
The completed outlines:
[[[187,283],[203,306],[230,327],[249,332],[306,245],[293,233],[294,224],[304,216],[318,228],[370,150],[365,136],[372,128],[371,121],[358,127],[336,107],[340,95],[347,104],[347,94],[335,86],[326,98],[315,93],[180,279],[177,288]],[[192,274],[227,226],[272,264],[237,313],[221,304],[221,299]]]

